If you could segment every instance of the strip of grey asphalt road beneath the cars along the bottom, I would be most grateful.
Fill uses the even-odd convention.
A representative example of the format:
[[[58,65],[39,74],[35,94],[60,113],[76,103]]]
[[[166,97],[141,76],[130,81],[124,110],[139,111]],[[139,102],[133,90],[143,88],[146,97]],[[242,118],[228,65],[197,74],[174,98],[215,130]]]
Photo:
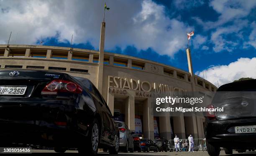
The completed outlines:
[[[46,153],[52,153],[54,155],[74,155],[77,153],[77,151],[66,151],[65,153],[55,153],[53,150],[32,150],[31,155],[42,155],[45,156]],[[246,152],[246,153],[237,153],[236,151],[233,151],[232,156],[255,156],[256,152]],[[20,154],[19,154],[20,155]],[[23,155],[23,154],[21,154]],[[78,153],[77,153],[78,155]],[[189,152],[149,152],[149,153],[144,153],[144,152],[134,152],[134,153],[119,153],[118,155],[120,156],[209,156],[207,151],[195,151],[194,153],[189,153]],[[99,152],[98,156],[117,156],[117,155],[110,155],[109,153],[104,153],[104,152]],[[224,151],[220,152],[220,156],[231,156],[231,155],[226,155]]]

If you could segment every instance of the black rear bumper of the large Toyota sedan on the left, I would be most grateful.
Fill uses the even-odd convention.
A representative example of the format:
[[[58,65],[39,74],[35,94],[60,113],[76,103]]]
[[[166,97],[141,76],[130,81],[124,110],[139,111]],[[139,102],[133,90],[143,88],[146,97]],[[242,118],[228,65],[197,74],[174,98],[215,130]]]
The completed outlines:
[[[69,126],[56,126],[46,121],[0,120],[0,127],[0,145],[3,147],[10,143],[75,147],[83,136]]]

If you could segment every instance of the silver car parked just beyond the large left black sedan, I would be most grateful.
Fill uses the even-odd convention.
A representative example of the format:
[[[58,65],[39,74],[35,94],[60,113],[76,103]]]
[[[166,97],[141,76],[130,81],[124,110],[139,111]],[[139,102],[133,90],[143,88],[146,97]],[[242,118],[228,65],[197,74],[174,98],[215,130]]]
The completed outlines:
[[[116,122],[118,123],[119,133],[120,133],[120,137],[119,137],[120,151],[133,152],[134,146],[133,146],[132,134],[134,134],[134,132],[131,132],[124,122],[121,122],[121,121],[116,121]]]

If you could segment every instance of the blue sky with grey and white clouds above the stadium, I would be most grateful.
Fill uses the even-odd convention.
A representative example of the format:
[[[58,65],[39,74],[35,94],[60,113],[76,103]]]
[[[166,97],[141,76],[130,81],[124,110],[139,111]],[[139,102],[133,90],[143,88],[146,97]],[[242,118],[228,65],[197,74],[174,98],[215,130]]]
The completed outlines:
[[[221,86],[256,78],[256,0],[106,0],[105,51],[194,72]],[[0,0],[0,44],[99,49],[104,0]]]

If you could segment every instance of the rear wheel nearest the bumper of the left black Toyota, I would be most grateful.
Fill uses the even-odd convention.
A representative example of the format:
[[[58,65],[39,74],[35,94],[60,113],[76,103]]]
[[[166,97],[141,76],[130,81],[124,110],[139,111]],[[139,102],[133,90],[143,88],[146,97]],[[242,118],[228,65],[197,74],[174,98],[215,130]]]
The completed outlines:
[[[98,153],[100,142],[100,127],[97,119],[92,122],[88,139],[78,148],[78,153],[95,156]]]

